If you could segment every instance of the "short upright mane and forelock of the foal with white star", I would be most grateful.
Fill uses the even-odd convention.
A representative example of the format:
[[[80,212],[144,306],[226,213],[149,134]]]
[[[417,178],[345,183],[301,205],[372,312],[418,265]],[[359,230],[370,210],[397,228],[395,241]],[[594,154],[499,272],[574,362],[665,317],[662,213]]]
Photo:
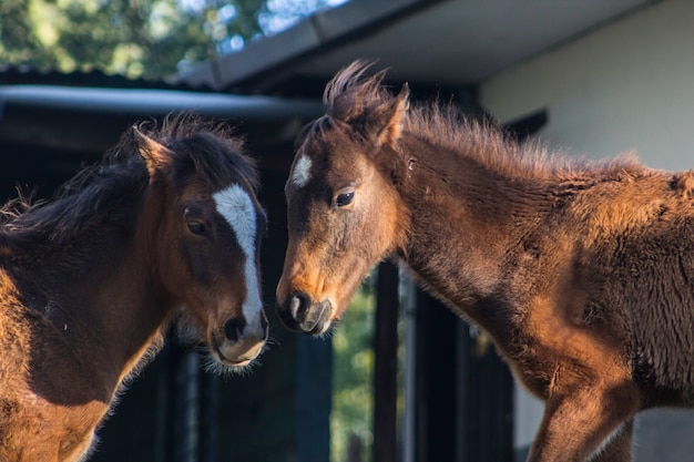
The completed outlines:
[[[338,72],[326,86],[323,102],[328,117],[368,130],[369,115],[392,102],[396,95],[384,84],[387,70],[372,75],[372,62],[356,61]],[[326,121],[318,122],[325,125]],[[318,126],[317,130],[322,130]],[[535,142],[520,144],[489,120],[466,116],[453,104],[439,101],[411,102],[402,121],[404,132],[415,134],[432,145],[472,158],[496,172],[529,178],[571,177],[601,171],[608,174],[642,173],[644,167],[632,154],[611,161],[585,161],[550,153]]]

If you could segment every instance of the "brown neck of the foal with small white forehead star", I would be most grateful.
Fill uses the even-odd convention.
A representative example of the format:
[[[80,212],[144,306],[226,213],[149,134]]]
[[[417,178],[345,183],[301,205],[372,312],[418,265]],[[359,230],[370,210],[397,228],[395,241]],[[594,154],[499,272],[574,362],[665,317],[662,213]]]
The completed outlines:
[[[402,259],[425,287],[476,318],[498,288],[504,259],[551,204],[531,181],[423,143],[409,147],[418,155],[401,191],[411,219]]]

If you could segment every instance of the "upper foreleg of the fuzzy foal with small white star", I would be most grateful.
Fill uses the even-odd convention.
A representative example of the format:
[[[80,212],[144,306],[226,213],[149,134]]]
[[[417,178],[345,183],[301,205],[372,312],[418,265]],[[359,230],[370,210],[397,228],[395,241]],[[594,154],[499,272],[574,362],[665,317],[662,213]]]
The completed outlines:
[[[637,410],[639,393],[629,382],[550,396],[528,462],[629,462]]]

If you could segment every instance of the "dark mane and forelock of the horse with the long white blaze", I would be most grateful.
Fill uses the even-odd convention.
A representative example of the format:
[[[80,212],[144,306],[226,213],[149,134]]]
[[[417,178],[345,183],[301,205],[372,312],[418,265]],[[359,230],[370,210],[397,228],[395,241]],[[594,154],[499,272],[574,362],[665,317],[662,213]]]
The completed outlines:
[[[235,177],[245,178],[244,186],[257,188],[255,165],[242,154],[243,142],[221,123],[180,114],[167,116],[161,124],[141,122],[136,129],[171,150],[174,158],[169,175],[174,185],[196,170],[217,187]],[[150,182],[137,143],[135,130],[127,130],[100,163],[82,170],[49,201],[33,202],[20,193],[0,209],[0,243],[65,243],[101,223],[120,205],[132,204]]]

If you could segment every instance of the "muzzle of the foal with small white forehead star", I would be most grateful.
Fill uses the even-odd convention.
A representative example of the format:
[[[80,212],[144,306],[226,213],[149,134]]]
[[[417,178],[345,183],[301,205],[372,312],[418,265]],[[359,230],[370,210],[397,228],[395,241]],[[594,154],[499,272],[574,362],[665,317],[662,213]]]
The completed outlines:
[[[330,327],[330,302],[314,301],[308,294],[292,294],[284,304],[277,305],[279,319],[287,329],[305,333],[323,333]]]

